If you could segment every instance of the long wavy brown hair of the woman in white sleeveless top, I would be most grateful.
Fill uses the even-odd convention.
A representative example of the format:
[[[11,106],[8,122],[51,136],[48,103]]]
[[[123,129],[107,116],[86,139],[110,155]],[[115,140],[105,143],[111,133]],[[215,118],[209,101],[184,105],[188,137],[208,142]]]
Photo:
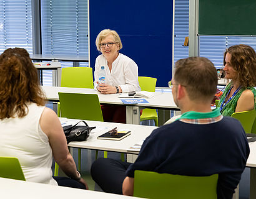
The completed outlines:
[[[7,49],[0,55],[0,119],[26,116],[28,103],[45,104],[36,67],[25,49]]]

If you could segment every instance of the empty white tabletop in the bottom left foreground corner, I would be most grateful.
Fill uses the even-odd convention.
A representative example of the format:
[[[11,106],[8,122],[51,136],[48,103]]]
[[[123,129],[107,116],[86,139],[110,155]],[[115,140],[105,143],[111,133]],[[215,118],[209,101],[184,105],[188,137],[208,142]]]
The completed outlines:
[[[71,199],[71,198],[136,198],[112,193],[95,192],[79,188],[60,187],[42,183],[0,178],[1,198],[10,199]]]

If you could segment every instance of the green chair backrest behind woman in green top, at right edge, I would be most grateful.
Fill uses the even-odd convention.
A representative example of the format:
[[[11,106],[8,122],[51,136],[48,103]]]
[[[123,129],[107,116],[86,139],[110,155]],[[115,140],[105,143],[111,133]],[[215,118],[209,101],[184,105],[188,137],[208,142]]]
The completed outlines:
[[[237,112],[231,115],[232,118],[238,119],[240,121],[246,133],[251,133],[255,116],[256,116],[255,110]]]

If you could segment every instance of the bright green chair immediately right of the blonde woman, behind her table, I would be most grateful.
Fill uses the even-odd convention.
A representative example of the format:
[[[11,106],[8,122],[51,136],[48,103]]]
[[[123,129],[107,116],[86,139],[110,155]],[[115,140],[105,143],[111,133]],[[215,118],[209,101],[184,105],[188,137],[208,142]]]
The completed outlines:
[[[155,84],[157,83],[156,78],[139,76],[138,80],[139,80],[139,85],[142,91],[149,91],[149,92],[155,91]],[[140,116],[140,121],[145,121],[149,119],[154,119],[155,126],[158,126],[157,111],[155,109],[144,108]]]

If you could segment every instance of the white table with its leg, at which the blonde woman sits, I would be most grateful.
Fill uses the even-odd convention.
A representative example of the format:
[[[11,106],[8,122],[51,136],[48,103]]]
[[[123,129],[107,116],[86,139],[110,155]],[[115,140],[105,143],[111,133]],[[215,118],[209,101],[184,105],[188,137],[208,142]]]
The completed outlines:
[[[121,98],[118,98],[119,94],[111,94],[111,95],[103,95],[94,89],[89,88],[67,88],[67,87],[57,87],[57,86],[42,86],[44,93],[46,93],[46,98],[49,101],[59,101],[58,92],[66,92],[66,93],[96,93],[99,96],[99,102],[101,104],[122,104]],[[146,99],[149,103],[141,103],[141,104],[126,104],[126,122],[128,124],[139,124],[140,121],[140,113],[139,110],[141,108],[154,108],[160,110],[168,110],[165,111],[167,114],[165,118],[162,118],[162,123],[169,119],[168,113],[169,110],[179,110],[179,108],[174,103],[174,99],[172,98],[172,93],[155,93],[153,98]],[[160,113],[161,115],[161,113]],[[162,124],[160,123],[159,126]]]

